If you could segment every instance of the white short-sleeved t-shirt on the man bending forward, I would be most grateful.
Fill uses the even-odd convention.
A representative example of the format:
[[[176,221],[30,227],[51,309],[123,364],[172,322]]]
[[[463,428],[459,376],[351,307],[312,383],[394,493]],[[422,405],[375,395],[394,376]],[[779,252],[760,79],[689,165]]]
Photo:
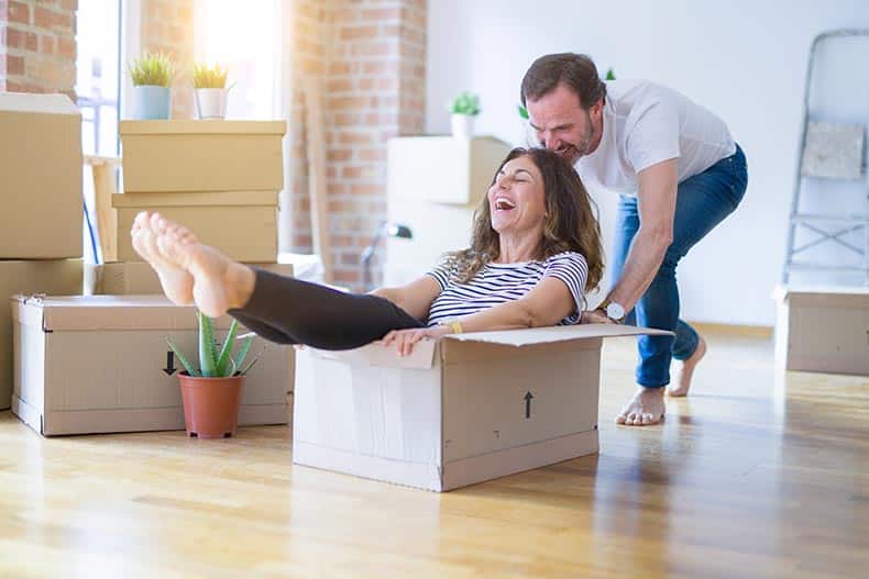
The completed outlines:
[[[679,182],[736,153],[727,125],[688,97],[648,80],[610,80],[597,148],[576,162],[586,182],[636,196],[637,174],[678,158]]]

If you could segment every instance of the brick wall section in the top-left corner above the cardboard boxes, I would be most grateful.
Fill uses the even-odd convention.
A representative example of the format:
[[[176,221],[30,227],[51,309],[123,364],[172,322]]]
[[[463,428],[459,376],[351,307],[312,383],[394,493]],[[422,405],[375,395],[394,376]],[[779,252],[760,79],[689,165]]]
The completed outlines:
[[[77,0],[0,0],[0,90],[75,99]]]

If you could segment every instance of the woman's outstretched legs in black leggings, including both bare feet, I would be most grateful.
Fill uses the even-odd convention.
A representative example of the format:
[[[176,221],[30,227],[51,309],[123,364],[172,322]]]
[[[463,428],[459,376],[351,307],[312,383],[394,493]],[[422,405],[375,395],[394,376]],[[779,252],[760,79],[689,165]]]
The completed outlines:
[[[350,349],[391,330],[424,326],[383,298],[343,293],[233,261],[156,213],[138,215],[131,235],[175,303],[196,303],[210,318],[230,313],[274,342]]]

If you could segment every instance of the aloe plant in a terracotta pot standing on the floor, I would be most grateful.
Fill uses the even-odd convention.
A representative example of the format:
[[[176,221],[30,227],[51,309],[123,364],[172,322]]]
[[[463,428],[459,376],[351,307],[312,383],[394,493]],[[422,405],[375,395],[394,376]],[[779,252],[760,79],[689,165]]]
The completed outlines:
[[[198,369],[169,338],[166,338],[186,370],[178,375],[178,380],[187,435],[198,438],[234,436],[239,424],[239,403],[244,376],[258,359],[255,357],[244,364],[254,336],[250,334],[240,337],[239,339],[243,342],[233,356],[238,322],[232,321],[221,346],[215,338],[211,319],[198,311],[196,316],[199,322]]]

